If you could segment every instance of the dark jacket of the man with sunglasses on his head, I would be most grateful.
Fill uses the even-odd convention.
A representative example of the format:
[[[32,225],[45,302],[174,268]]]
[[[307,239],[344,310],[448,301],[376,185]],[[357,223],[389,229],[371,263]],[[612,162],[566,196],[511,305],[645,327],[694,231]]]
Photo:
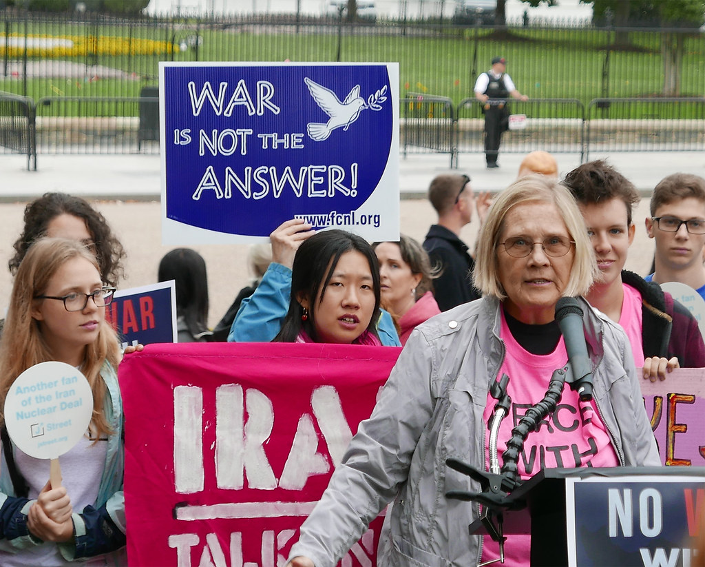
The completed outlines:
[[[480,297],[472,285],[475,262],[467,245],[453,231],[439,224],[432,225],[424,240],[424,250],[429,253],[431,267],[442,270],[434,279],[434,295],[441,311]]]

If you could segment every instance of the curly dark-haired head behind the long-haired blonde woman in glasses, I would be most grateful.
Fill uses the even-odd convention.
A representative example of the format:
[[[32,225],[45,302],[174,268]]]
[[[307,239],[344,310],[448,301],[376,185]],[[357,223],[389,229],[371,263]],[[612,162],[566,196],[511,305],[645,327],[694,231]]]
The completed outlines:
[[[32,243],[42,236],[80,240],[97,257],[100,273],[109,286],[117,286],[124,275],[121,264],[125,250],[114,236],[105,217],[81,197],[66,193],[44,193],[25,207],[25,226],[13,245],[15,255],[8,262],[16,274]]]

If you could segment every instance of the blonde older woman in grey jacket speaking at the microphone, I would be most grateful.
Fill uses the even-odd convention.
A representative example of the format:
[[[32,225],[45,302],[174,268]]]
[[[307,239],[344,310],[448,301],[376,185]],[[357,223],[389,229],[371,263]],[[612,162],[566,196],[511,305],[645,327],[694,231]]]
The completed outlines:
[[[290,566],[335,566],[390,501],[377,565],[497,561],[498,544],[467,529],[479,517],[477,502],[446,497],[470,486],[447,459],[485,471],[496,457],[513,480],[544,468],[660,465],[627,336],[580,297],[597,267],[570,192],[544,176],[515,181],[490,207],[478,243],[473,276],[482,298],[412,331],[372,415],[301,526]],[[581,400],[558,387],[555,409],[534,423],[513,459],[513,429],[568,362],[570,341],[556,320],[565,297],[582,312],[594,396]],[[510,401],[500,425],[492,421],[495,455],[488,420],[498,402],[490,392],[503,374]],[[505,566],[529,566],[529,539],[508,537]]]

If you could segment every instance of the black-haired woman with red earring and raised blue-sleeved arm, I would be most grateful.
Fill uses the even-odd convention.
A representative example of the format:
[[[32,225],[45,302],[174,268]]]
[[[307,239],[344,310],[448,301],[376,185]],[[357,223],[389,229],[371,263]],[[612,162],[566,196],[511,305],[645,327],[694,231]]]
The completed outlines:
[[[391,315],[379,307],[379,264],[372,247],[353,233],[340,230],[316,232],[311,228],[304,221],[292,219],[271,233],[272,262],[255,293],[240,305],[228,341],[309,339],[314,342],[400,346]],[[324,317],[331,312],[329,302],[338,298],[338,291],[341,288],[350,290],[353,284],[352,281],[338,281],[333,276],[361,276],[363,273],[364,284],[362,281],[355,284],[359,296],[354,298],[354,305],[347,305],[348,299],[341,299],[350,309],[343,309],[339,316],[331,316],[331,320]],[[371,307],[367,291],[374,295]],[[338,303],[332,309],[337,313],[340,306]],[[363,315],[364,325],[361,324]],[[335,329],[334,336],[328,336],[327,329]],[[345,332],[338,336],[338,331],[343,329]],[[365,333],[365,330],[369,332]],[[350,335],[353,335],[352,339]]]

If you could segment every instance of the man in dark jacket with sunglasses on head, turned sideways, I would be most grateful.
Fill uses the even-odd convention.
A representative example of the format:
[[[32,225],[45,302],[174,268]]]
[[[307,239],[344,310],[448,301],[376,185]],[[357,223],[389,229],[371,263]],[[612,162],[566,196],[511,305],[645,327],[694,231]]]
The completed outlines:
[[[470,275],[474,260],[467,245],[460,240],[460,231],[472,221],[475,207],[482,226],[490,198],[488,193],[481,193],[476,202],[466,175],[439,175],[429,186],[429,201],[439,221],[429,228],[424,249],[431,258],[431,267],[441,270],[434,279],[434,292],[441,311],[447,311],[480,296]]]

